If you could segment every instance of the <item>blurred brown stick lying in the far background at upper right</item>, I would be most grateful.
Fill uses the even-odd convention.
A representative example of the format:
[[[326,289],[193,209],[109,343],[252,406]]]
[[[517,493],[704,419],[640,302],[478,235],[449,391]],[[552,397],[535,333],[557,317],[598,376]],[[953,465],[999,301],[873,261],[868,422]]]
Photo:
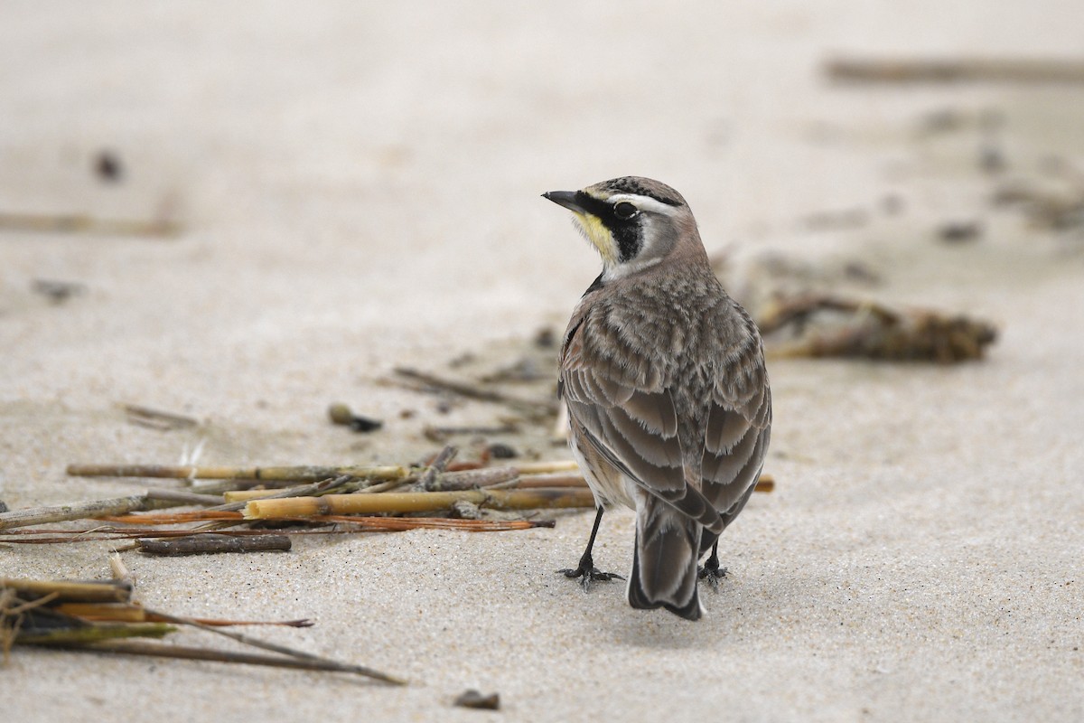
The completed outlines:
[[[838,57],[825,72],[851,82],[1084,82],[1084,63],[1022,57]]]

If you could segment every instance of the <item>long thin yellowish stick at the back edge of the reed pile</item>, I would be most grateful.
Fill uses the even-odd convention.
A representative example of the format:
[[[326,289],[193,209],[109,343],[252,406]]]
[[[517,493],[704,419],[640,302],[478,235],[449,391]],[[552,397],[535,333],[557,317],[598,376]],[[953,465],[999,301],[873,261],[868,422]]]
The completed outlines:
[[[376,467],[326,467],[300,465],[288,467],[195,467],[157,464],[72,464],[73,477],[166,477],[171,479],[266,479],[317,482],[349,475],[358,479],[401,479],[408,470],[400,465]]]

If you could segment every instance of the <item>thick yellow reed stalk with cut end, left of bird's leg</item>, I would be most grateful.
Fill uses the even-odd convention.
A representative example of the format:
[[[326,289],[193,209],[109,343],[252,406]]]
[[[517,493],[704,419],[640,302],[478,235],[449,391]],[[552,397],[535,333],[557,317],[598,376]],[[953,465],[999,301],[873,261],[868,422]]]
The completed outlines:
[[[306,517],[373,513],[433,512],[466,500],[502,509],[538,507],[592,507],[589,490],[464,490],[459,492],[386,492],[384,494],[327,494],[322,498],[255,500],[245,505],[245,519]]]

